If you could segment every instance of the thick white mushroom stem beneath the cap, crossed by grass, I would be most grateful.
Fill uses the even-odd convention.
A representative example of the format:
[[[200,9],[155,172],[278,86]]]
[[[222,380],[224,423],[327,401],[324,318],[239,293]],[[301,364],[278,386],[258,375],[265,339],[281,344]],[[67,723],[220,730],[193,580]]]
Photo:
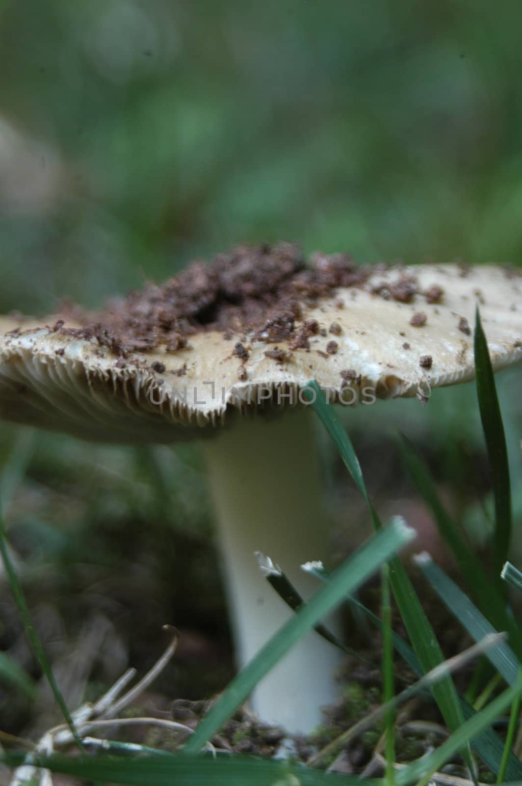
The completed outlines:
[[[301,564],[329,561],[311,417],[308,408],[273,420],[238,420],[206,444],[239,668],[293,613],[268,584],[255,552],[279,564],[304,597],[317,582]],[[341,653],[312,631],[261,681],[252,709],[291,733],[311,731],[323,720],[320,708],[338,696],[340,661]]]

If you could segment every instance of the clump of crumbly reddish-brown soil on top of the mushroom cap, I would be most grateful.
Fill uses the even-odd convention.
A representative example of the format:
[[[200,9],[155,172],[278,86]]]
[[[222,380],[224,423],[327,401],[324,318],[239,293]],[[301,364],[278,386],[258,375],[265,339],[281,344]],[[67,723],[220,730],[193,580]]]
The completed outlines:
[[[304,307],[335,296],[337,288],[362,288],[370,276],[391,267],[357,266],[348,254],[317,252],[310,261],[306,265],[298,247],[288,243],[240,246],[209,264],[196,260],[162,285],[148,284],[105,310],[89,314],[68,304],[65,324],[57,321],[53,330],[97,340],[120,357],[158,346],[175,352],[187,347],[195,332],[206,330],[220,331],[227,340],[235,337],[235,347],[249,334],[267,343],[287,341],[292,349],[308,349],[309,336],[321,330],[315,320],[302,323]],[[422,292],[414,277],[400,276],[395,284],[377,285],[371,292],[400,303],[411,303],[419,295],[427,303],[438,303],[444,296],[436,285]],[[82,327],[69,328],[68,319]],[[411,325],[425,321],[425,314],[418,312]],[[340,325],[333,322],[330,332],[339,335]]]

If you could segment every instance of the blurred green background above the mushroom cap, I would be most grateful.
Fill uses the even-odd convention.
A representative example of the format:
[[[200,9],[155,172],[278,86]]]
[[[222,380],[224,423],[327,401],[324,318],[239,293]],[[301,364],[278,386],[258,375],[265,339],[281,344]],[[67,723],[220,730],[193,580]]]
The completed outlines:
[[[520,257],[520,3],[0,8],[4,310],[243,241]]]

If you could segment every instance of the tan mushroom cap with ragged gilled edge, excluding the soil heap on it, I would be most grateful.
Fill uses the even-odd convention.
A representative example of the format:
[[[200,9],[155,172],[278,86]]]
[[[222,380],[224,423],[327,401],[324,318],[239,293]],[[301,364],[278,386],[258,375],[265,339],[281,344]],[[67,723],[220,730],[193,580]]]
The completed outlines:
[[[389,295],[411,278],[411,302]],[[194,436],[190,425],[212,431],[234,410],[298,405],[312,378],[344,403],[361,400],[364,388],[380,399],[422,396],[473,379],[477,303],[494,369],[522,358],[521,285],[498,266],[376,269],[362,285],[303,307],[297,327],[319,324],[308,349],[254,331],[230,339],[206,330],[174,353],[159,346],[121,358],[96,339],[53,329],[56,317],[2,317],[0,417],[87,439],[171,442]],[[235,353],[238,342],[248,357]]]

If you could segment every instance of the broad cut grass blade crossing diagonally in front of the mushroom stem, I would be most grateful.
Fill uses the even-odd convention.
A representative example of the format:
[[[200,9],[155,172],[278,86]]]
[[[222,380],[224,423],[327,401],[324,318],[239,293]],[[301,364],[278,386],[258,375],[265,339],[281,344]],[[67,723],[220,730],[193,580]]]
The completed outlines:
[[[199,751],[290,647],[335,608],[346,594],[354,592],[392,554],[411,542],[412,538],[411,528],[397,518],[345,560],[334,572],[331,581],[320,587],[308,604],[301,607],[232,680],[206,718],[203,718],[184,750],[187,753]]]

